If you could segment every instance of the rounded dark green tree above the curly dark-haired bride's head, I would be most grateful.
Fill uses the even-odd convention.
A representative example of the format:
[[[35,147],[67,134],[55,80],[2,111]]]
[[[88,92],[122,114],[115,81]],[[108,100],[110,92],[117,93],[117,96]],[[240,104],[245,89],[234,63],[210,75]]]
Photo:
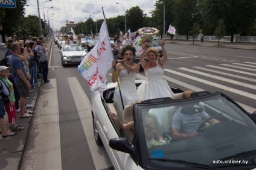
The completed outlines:
[[[127,30],[130,28],[131,32],[144,27],[143,10],[141,8],[136,6],[126,11],[126,27]]]

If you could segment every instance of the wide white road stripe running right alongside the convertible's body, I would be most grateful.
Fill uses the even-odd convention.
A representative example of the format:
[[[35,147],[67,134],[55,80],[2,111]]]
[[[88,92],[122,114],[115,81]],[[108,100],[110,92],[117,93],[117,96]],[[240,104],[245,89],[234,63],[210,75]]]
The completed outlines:
[[[94,160],[95,168],[97,170],[107,169],[111,167],[112,164],[107,153],[100,152],[99,147],[95,143],[94,130],[92,127],[91,102],[76,77],[68,77],[68,83],[90,148],[92,160]]]

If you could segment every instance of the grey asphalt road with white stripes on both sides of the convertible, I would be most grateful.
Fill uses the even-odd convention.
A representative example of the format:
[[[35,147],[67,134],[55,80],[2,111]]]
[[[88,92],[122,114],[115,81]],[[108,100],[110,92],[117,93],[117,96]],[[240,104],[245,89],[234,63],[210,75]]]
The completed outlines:
[[[249,112],[256,110],[255,51],[178,44],[167,44],[166,49],[164,79],[169,84],[220,91]],[[112,169],[104,146],[94,142],[89,86],[77,66],[62,67],[54,44],[49,78],[37,99],[22,169]],[[144,72],[137,78],[144,80]]]

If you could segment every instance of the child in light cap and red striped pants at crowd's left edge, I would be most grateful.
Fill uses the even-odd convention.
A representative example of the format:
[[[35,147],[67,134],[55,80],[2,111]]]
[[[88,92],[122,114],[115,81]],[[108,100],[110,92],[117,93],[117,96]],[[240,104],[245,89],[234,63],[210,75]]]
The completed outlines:
[[[7,84],[7,87],[10,90],[10,96],[8,96],[8,99],[10,102],[5,102],[4,107],[5,111],[8,114],[8,122],[10,124],[11,131],[19,131],[23,130],[24,127],[22,125],[16,124],[16,107],[15,107],[15,97],[14,97],[14,89],[13,84],[8,80],[8,77],[10,75],[10,68],[7,66],[0,66],[0,79]]]

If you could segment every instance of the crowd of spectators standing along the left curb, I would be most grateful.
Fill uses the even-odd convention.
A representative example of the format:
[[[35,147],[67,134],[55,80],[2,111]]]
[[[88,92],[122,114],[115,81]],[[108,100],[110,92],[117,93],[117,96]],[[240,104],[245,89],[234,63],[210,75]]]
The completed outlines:
[[[27,104],[27,98],[33,89],[40,86],[40,78],[43,83],[48,80],[48,61],[46,57],[48,49],[43,37],[31,37],[31,39],[18,40],[16,37],[8,37],[7,51],[0,61],[0,134],[2,137],[13,136],[17,131],[23,130],[22,125],[16,124],[17,117],[31,118],[33,107]],[[4,121],[5,112],[8,115],[10,128]],[[19,116],[17,113],[19,112]]]

